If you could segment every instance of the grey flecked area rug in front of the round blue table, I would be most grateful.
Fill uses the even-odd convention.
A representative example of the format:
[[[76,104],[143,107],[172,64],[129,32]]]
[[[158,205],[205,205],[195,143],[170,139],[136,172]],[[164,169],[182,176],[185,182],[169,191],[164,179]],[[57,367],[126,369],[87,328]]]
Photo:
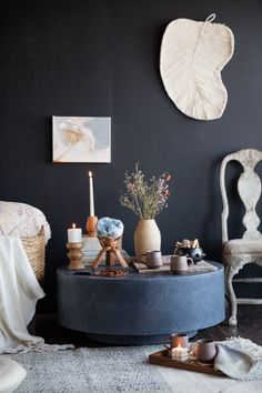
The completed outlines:
[[[172,392],[163,375],[148,363],[141,346],[37,351],[10,356],[28,372],[16,391],[19,393]]]

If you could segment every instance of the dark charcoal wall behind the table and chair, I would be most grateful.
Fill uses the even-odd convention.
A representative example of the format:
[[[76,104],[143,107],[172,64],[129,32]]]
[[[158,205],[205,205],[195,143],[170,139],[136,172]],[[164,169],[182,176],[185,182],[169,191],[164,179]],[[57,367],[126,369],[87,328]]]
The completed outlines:
[[[222,73],[225,112],[203,122],[184,117],[168,98],[159,49],[171,20],[204,20],[212,12],[232,29],[235,52]],[[66,229],[72,221],[84,228],[89,170],[97,213],[124,222],[131,254],[137,218],[118,198],[124,170],[139,161],[149,177],[173,174],[169,209],[157,220],[162,250],[199,238],[208,256],[219,260],[221,159],[241,148],[262,149],[261,1],[12,1],[0,26],[0,198],[38,206],[51,224],[40,309],[56,308],[56,269],[68,262]],[[53,164],[52,114],[111,115],[112,163]],[[234,234],[242,229],[241,210],[231,220]]]

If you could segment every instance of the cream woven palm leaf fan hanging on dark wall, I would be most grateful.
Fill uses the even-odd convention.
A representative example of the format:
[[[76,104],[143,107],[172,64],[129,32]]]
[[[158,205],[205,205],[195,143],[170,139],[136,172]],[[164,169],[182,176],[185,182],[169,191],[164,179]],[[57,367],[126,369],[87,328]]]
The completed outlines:
[[[164,31],[160,72],[177,108],[198,120],[219,119],[228,102],[221,71],[234,51],[234,36],[224,24],[175,19]]]

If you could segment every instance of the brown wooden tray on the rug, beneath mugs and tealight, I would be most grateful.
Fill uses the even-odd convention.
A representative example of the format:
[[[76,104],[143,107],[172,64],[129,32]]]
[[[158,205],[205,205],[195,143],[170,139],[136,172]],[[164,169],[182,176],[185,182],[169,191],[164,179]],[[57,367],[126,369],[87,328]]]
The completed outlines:
[[[196,361],[187,360],[185,362],[180,362],[178,360],[171,359],[168,355],[168,351],[159,351],[149,355],[149,363],[158,365],[167,365],[169,367],[195,371],[196,373],[205,373],[219,376],[225,376],[221,371],[214,370],[212,364],[200,364]]]

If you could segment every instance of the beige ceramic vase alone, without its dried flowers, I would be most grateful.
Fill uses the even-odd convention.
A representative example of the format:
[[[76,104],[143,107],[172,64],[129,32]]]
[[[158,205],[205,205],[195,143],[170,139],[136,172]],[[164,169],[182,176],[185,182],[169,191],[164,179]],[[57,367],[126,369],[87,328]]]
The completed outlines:
[[[161,250],[161,234],[155,220],[140,220],[134,231],[134,251],[137,261],[147,251]]]

